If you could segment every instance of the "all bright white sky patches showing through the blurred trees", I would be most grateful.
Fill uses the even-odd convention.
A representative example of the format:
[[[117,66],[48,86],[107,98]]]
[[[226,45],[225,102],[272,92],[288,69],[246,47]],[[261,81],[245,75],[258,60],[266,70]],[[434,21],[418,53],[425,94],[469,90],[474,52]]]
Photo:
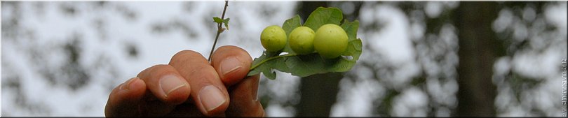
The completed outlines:
[[[144,68],[155,64],[167,64],[173,54],[180,50],[195,50],[201,52],[204,57],[208,57],[216,29],[215,23],[212,22],[212,17],[220,17],[222,6],[224,5],[223,1],[191,2],[190,13],[187,13],[184,3],[179,1],[113,1],[107,3],[107,8],[109,9],[97,9],[85,2],[75,1],[68,3],[76,6],[75,8],[78,12],[76,16],[70,17],[62,14],[59,6],[65,4],[65,2],[46,2],[42,11],[34,8],[36,4],[32,2],[24,3],[22,5],[22,21],[20,21],[20,25],[27,29],[33,29],[36,34],[32,37],[34,40],[24,36],[21,37],[22,40],[14,41],[6,40],[2,36],[1,67],[4,68],[1,70],[2,85],[5,84],[6,77],[20,75],[20,82],[22,82],[23,88],[23,92],[20,94],[25,94],[29,103],[36,104],[39,108],[49,109],[46,112],[38,112],[29,108],[18,107],[17,102],[15,102],[17,100],[13,97],[18,93],[2,88],[1,108],[3,109],[1,112],[3,116],[4,114],[11,116],[104,116],[104,105],[110,91],[109,86],[114,87],[134,77]],[[217,47],[221,45],[238,45],[250,52],[253,58],[259,57],[262,50],[264,50],[259,42],[259,34],[262,29],[273,24],[281,25],[284,20],[296,14],[292,13],[295,6],[296,3],[294,1],[229,2],[226,17],[231,18],[231,29],[221,34]],[[134,11],[137,18],[129,20],[127,17],[123,17],[121,12],[118,12],[119,10],[114,9],[121,7]],[[428,9],[426,9],[427,15],[437,15],[437,12],[440,12],[437,9],[438,7],[440,7],[439,4],[429,4]],[[11,12],[5,11],[6,9],[2,8],[2,20],[5,17],[11,17]],[[269,10],[265,11],[266,9]],[[388,59],[392,63],[404,65],[397,72],[400,74],[381,82],[399,85],[406,84],[412,76],[417,75],[419,72],[415,64],[416,62],[414,62],[416,52],[413,52],[412,40],[410,40],[411,35],[415,34],[410,33],[412,31],[420,32],[421,29],[410,28],[407,16],[400,9],[393,6],[363,6],[360,11],[362,12],[360,13],[361,25],[370,24],[374,20],[384,20],[387,23],[376,34],[358,34],[358,37],[363,39],[363,43],[370,43],[372,48],[381,50],[380,53],[389,57]],[[547,11],[546,17],[550,17],[550,20],[557,22],[561,29],[564,29],[562,32],[565,37],[567,25],[566,3],[551,7]],[[38,14],[38,12],[44,13]],[[263,12],[269,12],[271,16],[266,17]],[[106,29],[104,32],[93,28],[93,21],[99,18],[102,18],[102,21],[104,21],[104,27],[102,27],[102,29]],[[191,26],[190,29],[197,32],[198,35],[188,39],[189,37],[185,36],[184,32],[181,32],[182,30],[179,29],[172,29],[164,34],[152,33],[152,24],[156,22],[167,23],[173,20],[189,24]],[[86,84],[86,87],[78,91],[71,91],[67,87],[51,86],[46,79],[41,78],[41,75],[36,73],[37,69],[33,68],[36,65],[31,63],[33,60],[30,57],[31,54],[26,54],[27,50],[46,48],[47,51],[44,53],[48,54],[43,54],[43,57],[45,57],[44,64],[48,67],[58,67],[65,63],[64,57],[61,57],[61,55],[65,54],[55,47],[68,42],[69,37],[74,33],[82,34],[81,47],[83,48],[81,50],[80,64],[92,66],[101,54],[105,54],[109,59],[109,64],[116,67],[114,71],[118,73],[117,78],[109,78],[111,76],[105,73],[106,71],[95,69],[93,77]],[[101,37],[100,34],[105,34],[106,37]],[[124,51],[124,44],[130,43],[137,47],[138,57],[136,59],[128,57],[128,52]],[[562,54],[565,54],[565,51],[564,49]],[[519,57],[519,59],[514,59],[513,62],[504,64],[518,64],[519,71],[523,73],[534,72],[534,68],[542,68],[539,70],[542,71],[543,75],[548,75],[546,79],[550,80],[554,78],[552,75],[555,73],[546,73],[547,71],[552,72],[546,69],[552,69],[549,67],[558,65],[560,61],[555,61],[555,59],[562,57],[562,55],[554,52],[557,52],[557,50],[539,54],[536,57],[542,58],[537,59],[530,58],[533,55],[527,54],[527,57]],[[365,57],[370,57],[370,55],[363,53],[361,59],[369,59]],[[532,63],[539,61],[549,63]],[[11,70],[6,70],[6,68]],[[365,75],[365,73],[373,72],[361,70],[358,73]],[[286,96],[290,98],[291,95],[287,92],[297,91],[297,82],[299,80],[289,74],[278,73],[278,78],[281,77],[290,79],[267,80],[263,78],[262,81],[266,81],[269,84],[268,87],[271,87],[266,89],[281,91],[277,92],[276,96],[283,99]],[[342,80],[340,83],[340,94],[344,97],[338,98],[338,103],[332,108],[331,116],[372,116],[373,111],[371,110],[373,106],[370,102],[381,98],[381,94],[384,94],[385,91],[384,83],[381,82],[372,77],[361,78],[354,82]],[[543,89],[549,89],[550,93],[560,91],[560,86],[555,84],[554,81],[546,81],[545,85]],[[558,89],[546,87],[556,87]],[[263,94],[261,92],[259,91],[259,95]],[[400,104],[393,103],[394,116],[426,115],[427,111],[420,110],[421,107],[428,105],[426,104],[425,99],[427,97],[424,90],[411,87],[405,88],[401,93],[401,96],[395,99],[395,101],[400,101]],[[547,94],[547,96],[552,95]],[[535,99],[535,101],[543,100]],[[265,108],[267,115],[273,117],[293,116],[294,111],[291,109],[277,103],[269,105],[269,108]],[[525,116],[525,114],[522,114],[524,111],[526,110],[513,108],[506,112],[504,116]],[[552,111],[550,114],[557,113],[557,110],[550,111]],[[442,111],[443,113],[447,112]]]

